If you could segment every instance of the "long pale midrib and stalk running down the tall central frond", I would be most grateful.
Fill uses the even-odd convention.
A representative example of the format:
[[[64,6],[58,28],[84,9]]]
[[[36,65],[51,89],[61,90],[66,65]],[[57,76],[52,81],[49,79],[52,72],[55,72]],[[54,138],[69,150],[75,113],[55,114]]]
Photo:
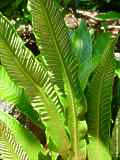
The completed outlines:
[[[78,152],[79,151],[78,151],[78,136],[77,136],[77,120],[76,120],[76,110],[75,110],[75,104],[74,104],[74,98],[73,98],[74,97],[74,94],[73,94],[74,92],[73,92],[72,87],[71,87],[72,80],[71,80],[71,78],[69,76],[69,71],[67,71],[67,69],[66,69],[67,67],[66,67],[66,65],[64,63],[64,60],[62,59],[62,52],[61,52],[59,43],[57,43],[57,38],[56,38],[55,32],[53,30],[52,22],[51,22],[51,19],[49,17],[48,10],[45,7],[45,4],[44,4],[44,6],[42,5],[42,8],[43,8],[43,10],[45,10],[44,14],[45,14],[45,17],[47,19],[48,26],[50,27],[50,31],[51,31],[50,33],[52,33],[52,35],[53,35],[52,36],[53,37],[53,41],[54,41],[56,49],[58,51],[59,59],[60,59],[60,62],[61,62],[61,68],[62,68],[63,73],[64,73],[63,75],[65,77],[65,82],[67,83],[67,88],[68,88],[68,93],[67,93],[68,94],[68,98],[67,98],[67,100],[68,100],[68,104],[69,104],[68,107],[71,108],[71,111],[69,113],[72,114],[71,117],[73,117],[73,123],[74,123],[74,126],[72,126],[72,128],[74,128],[74,130],[73,130],[73,133],[74,133],[74,136],[73,136],[73,140],[74,140],[73,141],[73,143],[74,143],[73,144],[73,147],[74,147],[73,148],[73,152],[75,153],[75,157],[78,157],[78,155],[79,155]],[[71,128],[71,126],[69,126],[69,127]]]

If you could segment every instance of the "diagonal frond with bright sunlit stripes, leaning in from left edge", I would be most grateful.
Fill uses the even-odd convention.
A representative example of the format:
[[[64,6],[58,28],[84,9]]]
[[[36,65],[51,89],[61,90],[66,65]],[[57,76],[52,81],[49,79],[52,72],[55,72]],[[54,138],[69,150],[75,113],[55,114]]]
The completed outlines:
[[[32,105],[46,124],[57,151],[62,155],[66,154],[68,139],[60,116],[62,106],[48,72],[24,46],[13,26],[2,14],[0,14],[0,28],[2,65],[10,77],[19,82],[26,93],[34,98]]]

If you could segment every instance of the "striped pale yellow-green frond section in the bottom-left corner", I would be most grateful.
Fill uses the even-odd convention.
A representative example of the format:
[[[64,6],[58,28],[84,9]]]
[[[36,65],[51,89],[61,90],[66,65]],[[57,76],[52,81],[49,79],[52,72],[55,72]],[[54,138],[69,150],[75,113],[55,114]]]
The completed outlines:
[[[28,156],[20,145],[15,142],[9,128],[0,122],[0,154],[2,159],[11,160],[28,160]]]

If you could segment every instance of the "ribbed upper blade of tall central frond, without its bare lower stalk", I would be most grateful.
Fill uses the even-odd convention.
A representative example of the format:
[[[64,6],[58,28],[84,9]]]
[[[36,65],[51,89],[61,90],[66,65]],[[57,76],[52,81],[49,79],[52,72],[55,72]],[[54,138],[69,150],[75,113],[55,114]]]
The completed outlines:
[[[79,96],[78,61],[71,51],[68,30],[59,9],[53,0],[30,0],[30,6],[38,45],[54,81],[62,91],[65,83],[69,83]]]

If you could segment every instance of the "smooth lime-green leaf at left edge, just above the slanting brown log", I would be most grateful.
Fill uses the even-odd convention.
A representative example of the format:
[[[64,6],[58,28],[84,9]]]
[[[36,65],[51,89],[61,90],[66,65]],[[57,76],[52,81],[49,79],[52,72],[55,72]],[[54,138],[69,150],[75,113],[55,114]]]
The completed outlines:
[[[38,121],[39,114],[30,106],[23,88],[15,85],[3,66],[0,66],[0,100],[16,105],[22,113],[34,122]]]

